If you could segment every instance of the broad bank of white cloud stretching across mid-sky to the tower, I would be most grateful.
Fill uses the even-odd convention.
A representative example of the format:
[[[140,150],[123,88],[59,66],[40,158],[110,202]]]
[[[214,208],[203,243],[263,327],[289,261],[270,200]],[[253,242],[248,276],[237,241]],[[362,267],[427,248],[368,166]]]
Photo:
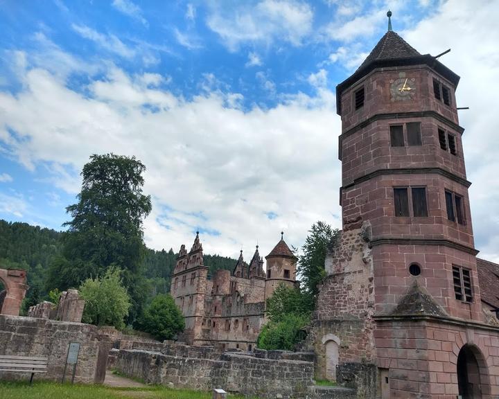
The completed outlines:
[[[290,245],[300,245],[313,222],[339,212],[331,205],[340,186],[339,163],[331,161],[331,132],[340,129],[331,93],[245,112],[242,96],[224,94],[213,75],[206,89],[215,89],[186,101],[153,74],[112,68],[83,96],[48,71],[25,73],[21,93],[0,94],[0,131],[11,155],[49,165],[53,183],[71,193],[90,154],[136,155],[148,168],[145,191],[153,197],[145,222],[151,247],[191,245],[200,227],[220,232],[202,236],[209,253],[236,256],[256,240],[265,253],[281,229]],[[317,187],[321,195],[310,195]],[[270,219],[270,212],[278,216]]]

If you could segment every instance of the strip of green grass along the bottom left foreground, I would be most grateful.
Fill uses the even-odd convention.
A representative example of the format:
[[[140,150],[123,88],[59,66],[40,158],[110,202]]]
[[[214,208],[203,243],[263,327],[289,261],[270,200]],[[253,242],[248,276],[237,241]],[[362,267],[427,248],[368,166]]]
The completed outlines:
[[[211,393],[169,389],[153,386],[144,388],[111,388],[103,385],[58,384],[56,382],[0,382],[1,399],[211,399]],[[231,399],[243,396],[229,395]]]

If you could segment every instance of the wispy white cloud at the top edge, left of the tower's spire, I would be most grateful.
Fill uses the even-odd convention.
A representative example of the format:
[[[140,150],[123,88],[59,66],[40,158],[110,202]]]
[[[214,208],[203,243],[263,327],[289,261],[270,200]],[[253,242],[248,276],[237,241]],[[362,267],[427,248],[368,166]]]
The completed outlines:
[[[312,23],[312,8],[293,0],[263,0],[256,6],[239,4],[229,9],[215,7],[207,18],[209,28],[231,51],[244,42],[271,44],[277,39],[299,46],[310,34]]]

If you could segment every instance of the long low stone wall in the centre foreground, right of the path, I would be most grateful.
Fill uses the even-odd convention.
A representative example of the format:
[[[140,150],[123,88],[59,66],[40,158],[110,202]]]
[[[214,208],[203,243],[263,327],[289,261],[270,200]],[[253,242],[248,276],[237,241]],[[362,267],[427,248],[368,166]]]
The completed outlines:
[[[184,351],[189,352],[189,349]],[[313,362],[273,360],[239,352],[226,352],[215,360],[209,358],[215,357],[213,353],[199,351],[200,357],[180,357],[121,350],[116,359],[116,369],[150,384],[173,383],[175,387],[199,390],[221,387],[227,391],[272,399],[311,398],[313,395]]]

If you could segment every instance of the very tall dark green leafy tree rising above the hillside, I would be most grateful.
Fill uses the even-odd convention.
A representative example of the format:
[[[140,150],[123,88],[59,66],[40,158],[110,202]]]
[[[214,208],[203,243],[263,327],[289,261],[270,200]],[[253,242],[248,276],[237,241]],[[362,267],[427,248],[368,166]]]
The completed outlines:
[[[67,207],[72,220],[65,223],[63,254],[49,271],[51,288],[77,287],[114,266],[122,270],[132,299],[131,319],[137,315],[146,292],[140,273],[146,251],[142,222],[151,211],[150,196],[142,193],[145,170],[135,157],[90,157],[78,202]]]

